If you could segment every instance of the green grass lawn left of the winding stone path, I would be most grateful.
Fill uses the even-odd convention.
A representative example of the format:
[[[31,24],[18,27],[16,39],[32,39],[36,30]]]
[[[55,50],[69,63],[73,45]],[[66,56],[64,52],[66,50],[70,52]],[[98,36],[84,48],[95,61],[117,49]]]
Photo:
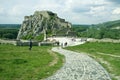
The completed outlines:
[[[0,45],[0,80],[40,80],[52,75],[63,63],[64,56],[56,54],[58,61],[50,54],[51,47]],[[52,52],[54,53],[54,52]]]

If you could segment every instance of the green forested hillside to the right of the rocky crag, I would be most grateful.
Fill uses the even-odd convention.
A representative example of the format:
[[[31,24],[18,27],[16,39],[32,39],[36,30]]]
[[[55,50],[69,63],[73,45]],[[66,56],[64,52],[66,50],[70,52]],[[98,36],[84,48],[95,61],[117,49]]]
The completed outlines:
[[[77,27],[76,27],[77,26]],[[73,25],[78,37],[120,39],[120,20],[92,25]]]

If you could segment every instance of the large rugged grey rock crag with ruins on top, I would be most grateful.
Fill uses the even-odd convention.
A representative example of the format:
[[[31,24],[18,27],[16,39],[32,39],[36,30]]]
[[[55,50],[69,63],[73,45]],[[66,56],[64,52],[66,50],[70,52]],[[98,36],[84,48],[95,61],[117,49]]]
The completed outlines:
[[[24,17],[17,39],[36,39],[43,35],[44,30],[47,36],[66,34],[70,28],[71,23],[59,18],[56,13],[36,11],[33,15]]]

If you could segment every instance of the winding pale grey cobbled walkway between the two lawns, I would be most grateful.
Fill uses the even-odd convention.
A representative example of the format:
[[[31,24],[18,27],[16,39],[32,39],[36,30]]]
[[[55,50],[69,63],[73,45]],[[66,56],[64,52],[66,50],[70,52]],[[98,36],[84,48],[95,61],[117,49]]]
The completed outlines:
[[[66,57],[64,66],[46,80],[111,80],[106,70],[86,54],[53,48]]]

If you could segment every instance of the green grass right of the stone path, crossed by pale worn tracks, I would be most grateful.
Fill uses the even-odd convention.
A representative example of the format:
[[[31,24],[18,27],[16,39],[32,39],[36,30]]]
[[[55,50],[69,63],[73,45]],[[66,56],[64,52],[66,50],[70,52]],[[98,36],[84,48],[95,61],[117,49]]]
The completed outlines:
[[[120,57],[99,54],[120,56],[120,43],[88,42],[78,46],[67,47],[66,49],[87,53],[103,65],[113,80],[118,80],[118,76],[120,78]]]

